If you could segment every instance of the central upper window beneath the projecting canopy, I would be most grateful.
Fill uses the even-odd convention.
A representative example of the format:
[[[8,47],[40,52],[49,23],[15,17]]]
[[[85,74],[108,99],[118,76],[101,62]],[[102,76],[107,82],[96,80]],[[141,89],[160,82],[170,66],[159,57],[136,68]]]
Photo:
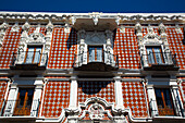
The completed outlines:
[[[102,61],[102,47],[88,47],[89,62],[101,62]]]

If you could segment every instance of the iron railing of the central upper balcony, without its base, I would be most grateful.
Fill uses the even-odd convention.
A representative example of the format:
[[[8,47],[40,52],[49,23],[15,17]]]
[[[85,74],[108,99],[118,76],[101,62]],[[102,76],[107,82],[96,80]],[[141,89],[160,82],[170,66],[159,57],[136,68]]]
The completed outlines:
[[[90,62],[102,62],[114,67],[119,67],[119,56],[112,54],[109,51],[102,51],[102,54],[91,56],[88,51],[79,54],[74,54],[73,66],[78,67]]]

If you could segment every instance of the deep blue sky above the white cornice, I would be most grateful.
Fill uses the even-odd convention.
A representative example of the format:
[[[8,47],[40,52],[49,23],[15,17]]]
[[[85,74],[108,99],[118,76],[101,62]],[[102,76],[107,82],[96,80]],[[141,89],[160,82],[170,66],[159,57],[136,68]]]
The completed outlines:
[[[0,0],[0,11],[185,13],[185,0]]]

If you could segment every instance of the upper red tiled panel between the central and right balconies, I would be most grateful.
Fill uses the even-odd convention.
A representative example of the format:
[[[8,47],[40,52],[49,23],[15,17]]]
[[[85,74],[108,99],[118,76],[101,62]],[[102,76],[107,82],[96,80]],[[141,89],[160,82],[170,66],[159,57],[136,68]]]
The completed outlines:
[[[125,28],[125,33],[116,30],[114,54],[119,54],[120,69],[140,69],[140,56],[134,28]]]

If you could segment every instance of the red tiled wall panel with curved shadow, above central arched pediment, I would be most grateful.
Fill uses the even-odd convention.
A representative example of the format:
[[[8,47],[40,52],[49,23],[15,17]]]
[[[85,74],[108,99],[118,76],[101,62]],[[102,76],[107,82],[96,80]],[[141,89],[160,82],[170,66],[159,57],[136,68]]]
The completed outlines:
[[[112,82],[78,82],[78,102],[85,102],[91,97],[115,102],[114,84]]]

